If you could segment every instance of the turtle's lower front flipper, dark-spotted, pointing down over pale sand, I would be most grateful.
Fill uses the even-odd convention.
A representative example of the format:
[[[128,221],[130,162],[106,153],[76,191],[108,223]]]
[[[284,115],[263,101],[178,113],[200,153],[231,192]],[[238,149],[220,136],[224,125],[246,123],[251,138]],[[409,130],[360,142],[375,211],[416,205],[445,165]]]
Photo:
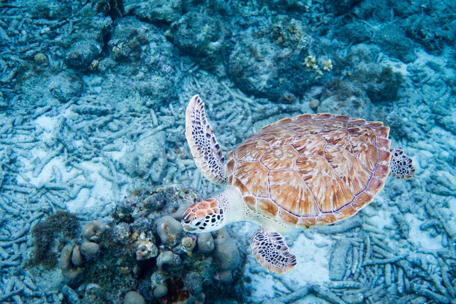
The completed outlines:
[[[296,256],[288,251],[279,232],[259,228],[250,239],[250,249],[257,261],[268,271],[286,273],[296,266]]]

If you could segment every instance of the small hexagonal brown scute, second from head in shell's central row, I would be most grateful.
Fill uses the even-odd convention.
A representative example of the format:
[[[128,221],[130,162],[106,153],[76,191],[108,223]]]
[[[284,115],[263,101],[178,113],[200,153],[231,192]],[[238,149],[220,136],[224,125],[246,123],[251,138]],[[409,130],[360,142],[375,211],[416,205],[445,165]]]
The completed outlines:
[[[299,152],[293,148],[291,144],[283,146],[270,146],[269,150],[264,153],[261,162],[269,170],[275,169],[295,169],[296,159],[299,157]]]

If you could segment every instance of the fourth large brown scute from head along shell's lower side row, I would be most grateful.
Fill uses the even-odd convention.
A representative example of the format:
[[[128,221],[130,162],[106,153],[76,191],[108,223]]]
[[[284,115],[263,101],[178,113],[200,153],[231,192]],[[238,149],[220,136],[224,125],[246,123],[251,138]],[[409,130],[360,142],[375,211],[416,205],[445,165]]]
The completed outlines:
[[[355,195],[366,189],[372,171],[347,150],[328,144],[325,148],[326,160],[336,174]]]

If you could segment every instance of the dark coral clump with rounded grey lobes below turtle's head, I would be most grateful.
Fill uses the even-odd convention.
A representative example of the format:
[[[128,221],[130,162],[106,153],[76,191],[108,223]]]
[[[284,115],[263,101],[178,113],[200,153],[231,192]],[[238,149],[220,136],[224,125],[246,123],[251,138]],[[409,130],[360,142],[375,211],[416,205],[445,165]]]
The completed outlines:
[[[87,222],[60,252],[64,297],[71,301],[75,293],[84,303],[203,302],[211,290],[233,288],[245,253],[228,232],[218,232],[215,241],[202,234],[198,242],[173,217],[161,216],[195,199],[192,189],[178,185],[141,189],[120,202],[106,224]],[[163,203],[160,210],[151,203],[156,200]],[[199,243],[209,248],[197,250]]]

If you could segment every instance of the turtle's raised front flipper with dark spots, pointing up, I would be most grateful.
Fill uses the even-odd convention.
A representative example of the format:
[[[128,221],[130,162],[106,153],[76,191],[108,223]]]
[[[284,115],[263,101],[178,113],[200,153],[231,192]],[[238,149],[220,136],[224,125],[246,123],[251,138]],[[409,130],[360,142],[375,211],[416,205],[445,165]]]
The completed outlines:
[[[198,95],[190,99],[185,118],[185,137],[198,169],[213,183],[226,184],[228,176],[223,151],[207,122],[204,103]]]

